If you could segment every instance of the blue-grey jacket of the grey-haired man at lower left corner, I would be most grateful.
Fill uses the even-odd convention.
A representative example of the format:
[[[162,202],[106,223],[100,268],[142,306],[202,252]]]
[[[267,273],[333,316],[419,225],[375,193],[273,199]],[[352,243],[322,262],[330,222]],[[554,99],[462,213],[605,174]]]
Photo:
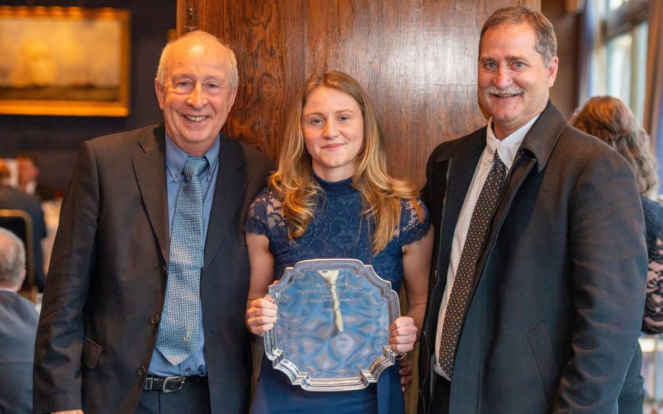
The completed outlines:
[[[32,355],[39,315],[14,292],[0,291],[0,413],[32,412]]]

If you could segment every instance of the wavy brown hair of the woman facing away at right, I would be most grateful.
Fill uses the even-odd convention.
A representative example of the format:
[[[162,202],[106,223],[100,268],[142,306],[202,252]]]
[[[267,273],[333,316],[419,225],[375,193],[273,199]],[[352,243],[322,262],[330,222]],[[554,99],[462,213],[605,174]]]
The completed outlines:
[[[657,164],[649,135],[638,126],[624,102],[607,96],[590,98],[569,123],[601,139],[626,158],[641,195],[651,195],[658,189]]]

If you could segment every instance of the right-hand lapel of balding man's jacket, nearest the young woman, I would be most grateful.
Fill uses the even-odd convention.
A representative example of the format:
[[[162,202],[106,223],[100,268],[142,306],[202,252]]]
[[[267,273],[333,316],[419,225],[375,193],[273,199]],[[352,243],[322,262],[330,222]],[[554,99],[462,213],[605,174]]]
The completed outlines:
[[[212,262],[228,232],[238,208],[244,199],[247,177],[244,171],[244,152],[240,144],[221,134],[219,146],[219,168],[216,175],[214,200],[209,216],[205,242],[203,272]],[[243,223],[240,223],[240,226]],[[238,229],[241,231],[241,229]]]

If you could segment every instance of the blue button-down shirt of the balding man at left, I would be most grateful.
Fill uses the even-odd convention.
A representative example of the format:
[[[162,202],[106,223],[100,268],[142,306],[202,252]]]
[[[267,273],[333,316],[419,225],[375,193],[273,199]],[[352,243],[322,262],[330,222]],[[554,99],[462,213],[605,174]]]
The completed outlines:
[[[216,186],[216,172],[219,166],[219,138],[214,141],[212,148],[204,155],[209,166],[200,174],[202,184],[202,219],[203,234],[206,239],[207,227],[209,225],[209,214],[212,210],[214,199],[214,188]],[[182,168],[184,161],[189,155],[175,145],[173,139],[166,134],[166,190],[168,192],[168,221],[169,228],[173,226],[173,215],[175,213],[175,201],[177,192],[184,180]],[[202,326],[202,307],[200,311],[200,339],[198,340],[198,351],[186,358],[178,365],[171,365],[157,348],[152,351],[149,373],[160,377],[173,377],[175,375],[207,375],[207,364],[205,361],[205,335]]]

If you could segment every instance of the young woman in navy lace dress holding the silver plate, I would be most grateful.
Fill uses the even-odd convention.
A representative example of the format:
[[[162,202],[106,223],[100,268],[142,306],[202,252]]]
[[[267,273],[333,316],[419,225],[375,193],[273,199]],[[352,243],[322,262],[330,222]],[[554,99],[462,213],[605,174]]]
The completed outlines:
[[[376,111],[342,72],[312,76],[287,121],[278,171],[251,205],[247,232],[251,287],[247,326],[262,335],[276,322],[267,287],[304,259],[371,264],[398,292],[407,316],[390,326],[394,351],[412,350],[425,311],[432,249],[430,216],[410,181],[387,172]],[[403,413],[398,365],[359,391],[313,392],[290,384],[263,357],[251,413]]]

